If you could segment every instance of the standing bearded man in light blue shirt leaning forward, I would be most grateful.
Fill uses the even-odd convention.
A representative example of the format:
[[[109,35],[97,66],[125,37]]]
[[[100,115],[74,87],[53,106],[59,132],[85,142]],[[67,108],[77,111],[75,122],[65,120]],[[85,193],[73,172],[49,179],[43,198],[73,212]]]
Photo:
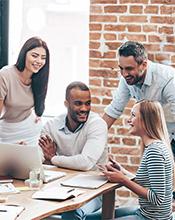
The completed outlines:
[[[130,98],[159,101],[164,109],[175,157],[175,69],[148,60],[142,44],[128,41],[118,50],[121,78],[103,119],[108,128],[120,117]],[[175,199],[175,192],[173,192]]]

